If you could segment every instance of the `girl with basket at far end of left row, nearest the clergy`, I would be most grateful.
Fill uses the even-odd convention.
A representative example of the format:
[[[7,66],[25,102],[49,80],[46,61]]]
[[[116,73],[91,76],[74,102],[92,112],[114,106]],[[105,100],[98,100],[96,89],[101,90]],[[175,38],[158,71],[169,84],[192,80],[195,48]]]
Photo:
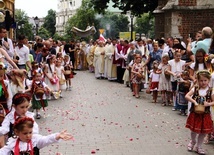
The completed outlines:
[[[69,55],[64,56],[64,70],[65,70],[65,79],[66,79],[66,90],[71,91],[71,78],[73,78],[72,73],[73,65],[70,61]]]

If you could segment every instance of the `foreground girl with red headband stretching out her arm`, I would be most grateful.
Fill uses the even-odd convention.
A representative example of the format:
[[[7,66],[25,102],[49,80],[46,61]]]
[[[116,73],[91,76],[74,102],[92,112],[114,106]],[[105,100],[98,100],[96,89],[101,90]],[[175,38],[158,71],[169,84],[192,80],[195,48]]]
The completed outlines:
[[[34,120],[22,117],[14,123],[16,138],[10,138],[6,146],[0,149],[2,155],[39,155],[38,149],[62,140],[71,140],[72,136],[66,131],[42,136],[33,134]]]

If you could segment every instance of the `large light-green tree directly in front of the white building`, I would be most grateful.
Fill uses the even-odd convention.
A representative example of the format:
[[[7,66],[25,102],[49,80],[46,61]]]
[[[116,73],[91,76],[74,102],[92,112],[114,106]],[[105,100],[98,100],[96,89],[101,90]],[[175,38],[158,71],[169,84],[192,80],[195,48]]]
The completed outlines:
[[[82,5],[77,9],[76,14],[69,18],[66,24],[66,34],[73,38],[74,35],[71,33],[72,27],[85,30],[87,26],[94,25],[97,28],[98,21],[95,19],[95,11],[92,9],[90,0],[83,0]],[[76,37],[78,39],[78,37]]]

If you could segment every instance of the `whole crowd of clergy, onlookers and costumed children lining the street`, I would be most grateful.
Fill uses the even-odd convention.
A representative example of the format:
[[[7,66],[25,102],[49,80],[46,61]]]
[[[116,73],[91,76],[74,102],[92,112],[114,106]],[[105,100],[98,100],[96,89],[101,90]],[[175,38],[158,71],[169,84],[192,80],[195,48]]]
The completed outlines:
[[[0,153],[38,153],[47,144],[72,137],[66,131],[46,140],[36,136],[38,125],[34,112],[28,110],[31,107],[40,119],[40,110],[49,100],[60,99],[64,91],[72,90],[76,70],[88,70],[97,80],[124,84],[137,99],[143,88],[152,93],[154,103],[159,102],[160,94],[162,106],[172,106],[173,111],[188,116],[189,151],[205,154],[202,144],[214,139],[214,35],[210,27],[187,41],[176,37],[136,41],[100,37],[88,43],[66,43],[39,36],[35,42],[23,35],[17,42],[5,38],[6,30],[0,28]],[[25,129],[31,129],[30,138],[21,135]],[[10,138],[13,135],[18,138]]]

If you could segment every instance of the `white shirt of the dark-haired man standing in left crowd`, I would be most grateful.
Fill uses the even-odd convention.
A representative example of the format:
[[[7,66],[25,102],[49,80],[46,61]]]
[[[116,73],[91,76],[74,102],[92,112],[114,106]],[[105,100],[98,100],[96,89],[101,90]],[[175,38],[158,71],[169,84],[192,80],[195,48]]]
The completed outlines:
[[[29,48],[25,45],[21,48],[15,47],[15,54],[19,57],[18,65],[25,65],[27,61],[30,61],[29,53]]]

